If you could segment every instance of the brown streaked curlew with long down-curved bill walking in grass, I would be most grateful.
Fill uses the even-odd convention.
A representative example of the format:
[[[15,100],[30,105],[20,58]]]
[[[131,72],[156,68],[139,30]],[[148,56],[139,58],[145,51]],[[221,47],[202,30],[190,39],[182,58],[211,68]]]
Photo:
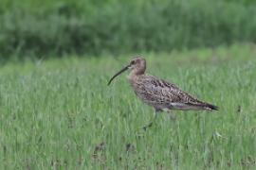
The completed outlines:
[[[111,84],[113,79],[121,73],[130,70],[128,80],[137,97],[149,106],[154,107],[155,117],[158,112],[172,110],[218,110],[218,107],[210,103],[201,101],[178,88],[173,83],[146,74],[146,59],[136,57],[129,64],[124,66],[117,74],[112,76],[108,81]],[[155,119],[154,119],[155,120]],[[150,122],[143,129],[151,127]]]

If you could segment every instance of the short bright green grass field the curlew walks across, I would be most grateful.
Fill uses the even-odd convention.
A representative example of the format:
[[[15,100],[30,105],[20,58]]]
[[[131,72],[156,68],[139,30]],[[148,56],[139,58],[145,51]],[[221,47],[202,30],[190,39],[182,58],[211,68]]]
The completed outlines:
[[[256,46],[144,54],[148,73],[220,110],[153,116],[120,58],[9,62],[0,68],[0,169],[254,169]],[[221,135],[221,136],[220,136]]]

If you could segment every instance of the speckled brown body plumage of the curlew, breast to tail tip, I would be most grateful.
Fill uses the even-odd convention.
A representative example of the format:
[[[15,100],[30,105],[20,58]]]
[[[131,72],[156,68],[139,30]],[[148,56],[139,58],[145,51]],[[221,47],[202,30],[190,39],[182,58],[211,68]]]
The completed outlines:
[[[216,107],[199,101],[177,86],[151,75],[129,78],[137,96],[155,110],[212,110]]]

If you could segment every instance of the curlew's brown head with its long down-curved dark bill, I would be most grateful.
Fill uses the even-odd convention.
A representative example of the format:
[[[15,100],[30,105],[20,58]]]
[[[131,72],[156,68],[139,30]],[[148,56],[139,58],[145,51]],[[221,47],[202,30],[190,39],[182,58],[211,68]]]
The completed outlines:
[[[143,75],[146,70],[146,59],[143,59],[141,57],[132,59],[128,65],[123,67],[116,75],[112,76],[112,78],[108,81],[108,85],[110,85],[110,83],[116,76],[119,76],[126,70],[131,70],[131,73],[133,75]]]

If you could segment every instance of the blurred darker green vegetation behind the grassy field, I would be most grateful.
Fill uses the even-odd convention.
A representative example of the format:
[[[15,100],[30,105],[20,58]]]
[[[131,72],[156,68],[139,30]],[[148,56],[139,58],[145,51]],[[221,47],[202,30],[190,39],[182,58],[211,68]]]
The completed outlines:
[[[1,0],[0,59],[256,42],[254,0]]]

